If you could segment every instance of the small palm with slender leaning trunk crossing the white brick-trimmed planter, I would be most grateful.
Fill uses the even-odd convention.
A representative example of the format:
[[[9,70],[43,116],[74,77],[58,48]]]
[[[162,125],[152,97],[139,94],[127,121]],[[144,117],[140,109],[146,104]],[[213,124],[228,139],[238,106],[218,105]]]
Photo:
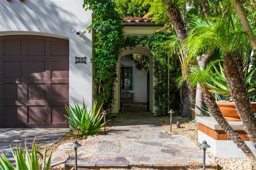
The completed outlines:
[[[237,147],[240,148],[244,154],[251,160],[252,166],[256,167],[256,157],[253,155],[251,149],[246,145],[246,143],[239,137],[225,118],[222,116],[220,109],[215,103],[215,99],[211,92],[207,89],[207,84],[211,82],[214,74],[211,72],[211,65],[207,66],[205,70],[200,70],[198,67],[191,69],[191,72],[187,75],[187,82],[189,87],[193,88],[197,83],[200,84],[203,91],[204,102],[211,112],[211,116],[215,118],[221,128],[229,135],[231,140],[233,140]]]

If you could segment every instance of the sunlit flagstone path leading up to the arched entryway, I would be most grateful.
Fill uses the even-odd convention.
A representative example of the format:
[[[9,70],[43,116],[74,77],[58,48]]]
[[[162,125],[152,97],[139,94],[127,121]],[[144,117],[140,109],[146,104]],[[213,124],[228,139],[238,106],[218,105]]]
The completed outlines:
[[[78,148],[81,169],[188,169],[202,167],[202,151],[183,135],[168,135],[162,125],[147,112],[118,114],[111,131],[89,137]],[[217,164],[206,159],[206,165]],[[74,157],[66,162],[74,166]]]

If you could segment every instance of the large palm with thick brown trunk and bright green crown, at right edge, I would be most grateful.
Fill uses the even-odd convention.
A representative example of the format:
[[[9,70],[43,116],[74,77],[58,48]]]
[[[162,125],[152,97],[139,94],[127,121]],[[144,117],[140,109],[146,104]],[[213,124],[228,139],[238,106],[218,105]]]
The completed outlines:
[[[256,117],[253,115],[245,86],[243,58],[251,50],[250,40],[234,13],[211,22],[197,20],[189,32],[186,47],[189,55],[196,56],[206,49],[218,48],[224,58],[225,77],[246,133],[256,148]]]

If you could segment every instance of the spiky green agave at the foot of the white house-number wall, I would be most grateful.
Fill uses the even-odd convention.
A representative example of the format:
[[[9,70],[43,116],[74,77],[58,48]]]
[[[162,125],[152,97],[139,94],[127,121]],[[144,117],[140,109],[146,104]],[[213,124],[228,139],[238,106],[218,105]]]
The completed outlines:
[[[68,123],[74,129],[71,133],[77,136],[87,137],[88,135],[98,134],[104,123],[101,123],[103,115],[100,113],[102,105],[97,109],[97,101],[93,103],[90,111],[83,101],[82,107],[77,103],[73,106],[66,106]]]

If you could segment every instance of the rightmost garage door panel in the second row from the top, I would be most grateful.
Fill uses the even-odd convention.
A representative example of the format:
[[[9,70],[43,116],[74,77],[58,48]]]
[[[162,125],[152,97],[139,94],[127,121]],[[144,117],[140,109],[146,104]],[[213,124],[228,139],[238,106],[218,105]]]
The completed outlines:
[[[51,60],[51,78],[53,79],[68,79],[69,62]]]

